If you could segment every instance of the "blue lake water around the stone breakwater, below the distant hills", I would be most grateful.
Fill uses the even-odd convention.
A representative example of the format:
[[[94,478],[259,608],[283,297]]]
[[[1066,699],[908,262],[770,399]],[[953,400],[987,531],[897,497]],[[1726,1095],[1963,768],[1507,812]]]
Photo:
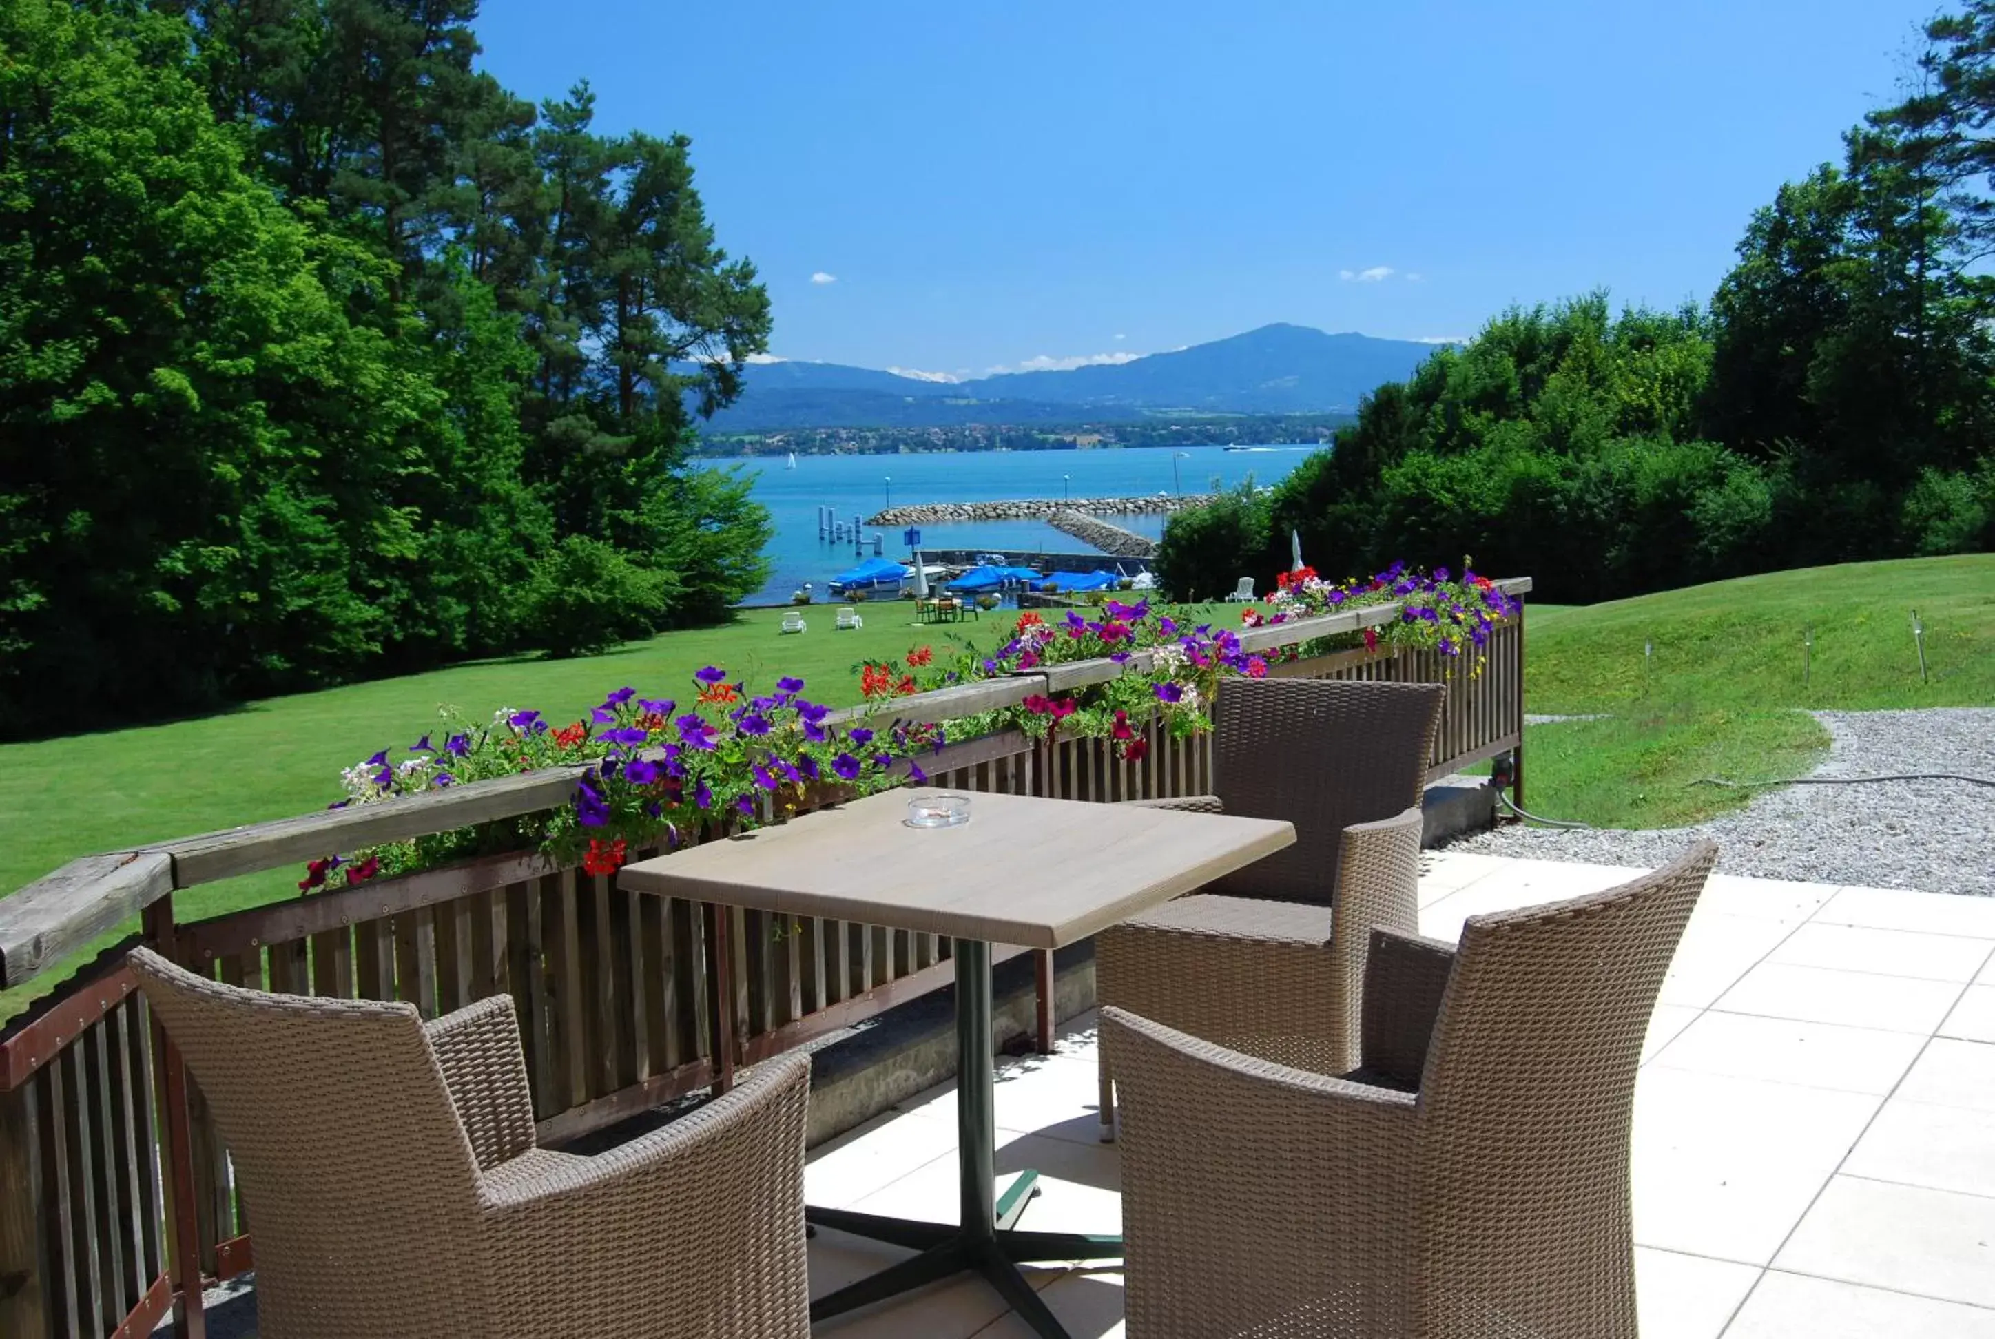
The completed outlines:
[[[708,457],[702,465],[736,465],[754,477],[754,499],[768,507],[776,537],[768,545],[768,585],[750,605],[788,601],[810,581],[818,599],[824,583],[854,565],[852,543],[818,539],[818,507],[836,507],[846,525],[854,513],[870,517],[910,503],[990,503],[1025,497],[1135,497],[1139,493],[1209,493],[1253,475],[1275,483],[1317,447],[1123,447],[1113,451],[956,451],[936,455],[800,455],[796,469],[782,457]],[[1173,461],[1177,473],[1173,477]],[[1123,529],[1157,537],[1163,517],[1107,517]],[[872,555],[874,527],[866,527]],[[880,531],[884,553],[906,559],[900,529]],[[1043,521],[978,521],[924,525],[926,549],[998,549],[1005,553],[1077,553],[1077,539]]]

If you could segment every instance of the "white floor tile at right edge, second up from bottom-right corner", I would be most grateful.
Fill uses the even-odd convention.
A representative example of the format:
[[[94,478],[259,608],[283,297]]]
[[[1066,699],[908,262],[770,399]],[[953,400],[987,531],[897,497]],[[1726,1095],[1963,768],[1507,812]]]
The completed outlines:
[[[1839,1175],[1776,1265],[1995,1307],[1995,1199]]]

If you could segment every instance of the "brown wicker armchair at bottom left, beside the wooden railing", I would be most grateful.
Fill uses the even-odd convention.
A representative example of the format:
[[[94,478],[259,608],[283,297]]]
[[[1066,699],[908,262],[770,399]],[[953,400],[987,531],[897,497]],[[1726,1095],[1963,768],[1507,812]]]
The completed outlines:
[[[251,1221],[263,1339],[806,1339],[810,1060],[597,1157],[535,1147],[513,1000],[223,986],[140,948]]]

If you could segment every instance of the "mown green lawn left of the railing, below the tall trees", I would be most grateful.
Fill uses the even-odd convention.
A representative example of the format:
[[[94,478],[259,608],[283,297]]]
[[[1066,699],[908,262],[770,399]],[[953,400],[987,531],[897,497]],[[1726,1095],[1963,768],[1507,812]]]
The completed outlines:
[[[950,645],[988,647],[1015,617],[914,627],[912,607],[898,601],[858,609],[866,627],[846,633],[832,631],[830,607],[808,609],[810,631],[788,637],[778,633],[782,611],[756,609],[728,627],[666,633],[581,661],[483,661],[170,724],[0,744],[0,894],[96,850],[315,810],[339,798],[341,768],[377,748],[407,748],[435,726],[443,704],[471,716],[535,706],[563,720],[620,684],[648,696],[684,696],[702,665],[720,665],[750,684],[796,674],[810,696],[848,704],[860,696],[860,661],[902,657],[922,645],[938,653]],[[1217,607],[1195,613],[1223,617]],[[203,884],[176,894],[176,912],[182,920],[217,916],[295,896],[295,882],[297,872],[269,870]],[[0,1020],[50,980],[0,992]]]

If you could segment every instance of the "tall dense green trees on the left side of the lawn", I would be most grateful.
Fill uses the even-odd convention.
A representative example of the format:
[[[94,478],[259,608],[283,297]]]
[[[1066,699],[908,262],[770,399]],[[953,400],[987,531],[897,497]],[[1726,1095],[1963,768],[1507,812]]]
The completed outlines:
[[[595,134],[587,86],[543,120],[475,14],[0,12],[0,734],[760,583],[766,515],[680,463],[766,347],[754,267],[684,138]]]

